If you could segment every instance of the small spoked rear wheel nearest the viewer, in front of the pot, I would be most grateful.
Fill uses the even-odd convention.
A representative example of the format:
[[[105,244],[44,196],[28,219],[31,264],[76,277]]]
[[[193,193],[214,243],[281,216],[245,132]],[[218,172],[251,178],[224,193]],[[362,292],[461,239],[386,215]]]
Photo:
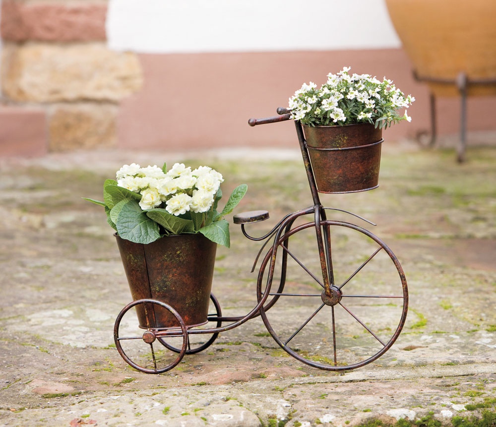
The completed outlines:
[[[145,313],[146,326],[139,326],[136,311],[132,308],[139,308]],[[152,327],[155,309],[170,311],[177,324],[167,329]],[[180,350],[173,352],[164,349],[162,339],[174,343]],[[137,300],[126,305],[117,316],[114,341],[117,351],[128,365],[145,373],[162,373],[181,362],[186,354],[188,335],[182,317],[170,305],[156,300]]]

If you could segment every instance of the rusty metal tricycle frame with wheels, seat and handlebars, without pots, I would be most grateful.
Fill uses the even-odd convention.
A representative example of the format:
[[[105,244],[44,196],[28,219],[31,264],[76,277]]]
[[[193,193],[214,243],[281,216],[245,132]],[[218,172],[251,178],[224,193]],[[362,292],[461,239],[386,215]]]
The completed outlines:
[[[248,123],[254,126],[290,119],[286,109],[278,109],[278,114]],[[391,249],[370,231],[327,218],[339,211],[375,225],[321,205],[304,130],[300,122],[295,124],[313,205],[286,215],[261,237],[249,235],[246,228],[267,219],[267,211],[234,216],[248,239],[264,242],[255,259],[255,265],[260,262],[256,305],[246,315],[223,316],[211,294],[207,324],[191,326],[165,299],[138,299],[121,310],[114,327],[117,349],[130,366],[147,373],[168,371],[186,354],[208,348],[219,333],[257,316],[289,355],[325,370],[367,365],[396,341],[408,310],[403,269]],[[357,188],[339,190],[336,192]],[[345,246],[352,250],[343,250]],[[126,320],[134,308],[144,318],[137,332],[133,325],[136,317]],[[155,311],[169,312],[168,327],[156,327]]]

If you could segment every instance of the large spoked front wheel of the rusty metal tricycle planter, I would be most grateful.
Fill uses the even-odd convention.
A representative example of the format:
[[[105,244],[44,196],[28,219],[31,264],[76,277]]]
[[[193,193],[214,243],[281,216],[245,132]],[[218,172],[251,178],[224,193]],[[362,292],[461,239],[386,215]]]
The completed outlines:
[[[315,223],[286,230],[264,257],[257,298],[267,330],[288,354],[326,370],[364,366],[396,341],[406,320],[408,288],[389,247],[368,230],[321,221],[324,292]]]

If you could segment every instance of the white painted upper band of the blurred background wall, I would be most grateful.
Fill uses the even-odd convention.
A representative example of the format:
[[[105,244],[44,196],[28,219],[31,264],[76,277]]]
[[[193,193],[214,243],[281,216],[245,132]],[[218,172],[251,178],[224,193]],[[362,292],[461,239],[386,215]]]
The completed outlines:
[[[110,0],[108,45],[138,53],[397,48],[384,0]]]

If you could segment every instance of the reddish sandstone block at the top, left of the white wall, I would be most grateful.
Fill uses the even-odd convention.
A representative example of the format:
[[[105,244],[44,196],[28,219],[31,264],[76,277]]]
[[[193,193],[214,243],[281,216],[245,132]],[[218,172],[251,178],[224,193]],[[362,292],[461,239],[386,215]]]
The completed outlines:
[[[103,3],[1,2],[1,37],[26,41],[105,40],[107,5]]]

